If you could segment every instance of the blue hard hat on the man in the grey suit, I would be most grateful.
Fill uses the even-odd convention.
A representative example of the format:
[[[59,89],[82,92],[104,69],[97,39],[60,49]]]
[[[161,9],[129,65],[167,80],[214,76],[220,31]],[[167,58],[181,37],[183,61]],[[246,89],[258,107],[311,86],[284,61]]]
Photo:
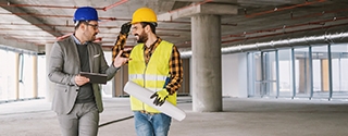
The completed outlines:
[[[91,7],[78,8],[74,14],[74,22],[76,21],[99,21],[97,10]]]

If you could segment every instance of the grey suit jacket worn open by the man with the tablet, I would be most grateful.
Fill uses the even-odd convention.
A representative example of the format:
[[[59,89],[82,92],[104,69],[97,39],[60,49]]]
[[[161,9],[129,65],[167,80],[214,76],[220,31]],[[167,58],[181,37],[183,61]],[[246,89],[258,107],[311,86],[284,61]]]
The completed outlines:
[[[117,69],[107,64],[102,48],[98,44],[88,44],[89,66],[91,73],[108,75],[108,81],[114,77]],[[49,63],[48,77],[57,83],[52,101],[52,109],[58,114],[67,114],[72,111],[79,87],[75,84],[75,76],[80,72],[79,57],[73,37],[54,42]],[[94,95],[99,112],[102,112],[102,100],[98,84],[92,84]]]

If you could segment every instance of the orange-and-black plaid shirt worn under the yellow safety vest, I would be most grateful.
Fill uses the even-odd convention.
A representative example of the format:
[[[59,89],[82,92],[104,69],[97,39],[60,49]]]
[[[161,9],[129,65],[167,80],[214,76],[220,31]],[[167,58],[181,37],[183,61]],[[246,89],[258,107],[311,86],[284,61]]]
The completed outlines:
[[[114,60],[117,53],[124,49],[124,45],[126,42],[127,37],[128,35],[122,35],[122,34],[117,36],[117,40],[112,48],[112,60]],[[151,54],[153,53],[153,51],[160,45],[161,41],[162,39],[158,37],[157,41],[154,41],[154,44],[152,44],[149,48],[147,46],[144,46],[144,58],[146,63],[149,62]],[[122,57],[129,58],[130,51],[132,50],[124,51]],[[172,95],[181,87],[181,83],[183,82],[183,76],[184,76],[183,61],[175,46],[173,46],[172,59],[170,60],[169,74],[171,75],[171,82],[165,86],[165,88]]]

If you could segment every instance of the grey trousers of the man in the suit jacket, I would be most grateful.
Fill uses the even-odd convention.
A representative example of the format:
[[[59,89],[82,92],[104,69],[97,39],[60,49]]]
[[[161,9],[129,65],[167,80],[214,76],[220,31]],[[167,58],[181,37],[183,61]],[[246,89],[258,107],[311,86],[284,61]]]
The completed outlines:
[[[59,114],[62,136],[97,136],[99,112],[95,102],[76,103],[69,114]]]

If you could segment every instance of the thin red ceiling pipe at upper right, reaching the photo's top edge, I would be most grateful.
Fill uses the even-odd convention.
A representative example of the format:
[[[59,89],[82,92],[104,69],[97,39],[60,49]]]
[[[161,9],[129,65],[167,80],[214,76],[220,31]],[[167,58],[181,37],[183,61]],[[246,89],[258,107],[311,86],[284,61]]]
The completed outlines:
[[[299,8],[299,7],[306,7],[306,5],[320,3],[320,2],[325,2],[325,1],[326,0],[315,0],[315,1],[311,1],[311,2],[306,1],[304,3],[295,4],[295,5],[290,5],[290,7],[275,8],[274,10],[270,10],[270,11],[263,11],[263,12],[258,12],[258,13],[252,13],[252,14],[246,14],[246,17],[254,17],[254,16],[262,15],[262,14],[268,14],[268,13],[273,13],[273,12],[277,12],[277,11],[289,10],[289,9]]]

